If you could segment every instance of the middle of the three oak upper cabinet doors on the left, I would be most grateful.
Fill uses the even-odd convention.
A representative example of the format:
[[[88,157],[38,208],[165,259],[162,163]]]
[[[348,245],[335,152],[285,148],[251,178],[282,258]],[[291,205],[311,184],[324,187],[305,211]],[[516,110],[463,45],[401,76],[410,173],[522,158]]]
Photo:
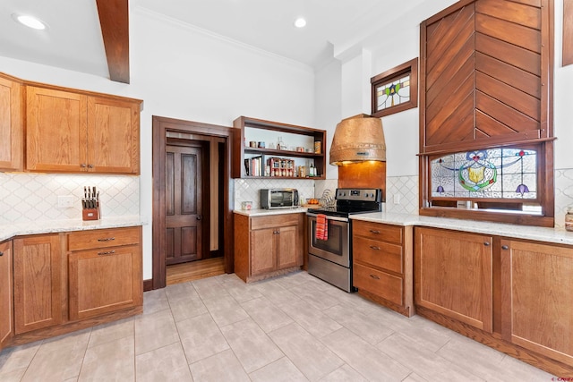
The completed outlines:
[[[26,168],[85,171],[87,98],[66,91],[27,87]]]

